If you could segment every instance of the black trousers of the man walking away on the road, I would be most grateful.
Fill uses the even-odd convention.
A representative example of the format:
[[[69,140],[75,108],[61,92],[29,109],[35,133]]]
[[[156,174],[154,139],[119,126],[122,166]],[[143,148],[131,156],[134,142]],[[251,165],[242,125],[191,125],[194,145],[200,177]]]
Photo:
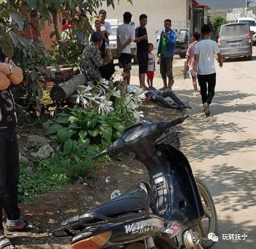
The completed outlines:
[[[198,75],[198,82],[201,89],[203,104],[208,103],[208,105],[210,105],[215,94],[216,73]]]

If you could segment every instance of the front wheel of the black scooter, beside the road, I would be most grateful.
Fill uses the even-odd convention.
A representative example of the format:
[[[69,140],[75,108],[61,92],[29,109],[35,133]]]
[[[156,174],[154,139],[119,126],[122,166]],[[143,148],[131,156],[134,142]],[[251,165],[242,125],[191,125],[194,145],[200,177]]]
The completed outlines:
[[[195,230],[200,234],[200,245],[202,245],[203,248],[209,248],[214,245],[214,241],[208,239],[208,234],[213,232],[216,236],[218,235],[218,218],[216,208],[211,193],[205,183],[197,177],[195,177],[195,180],[205,213],[204,217],[196,220]]]

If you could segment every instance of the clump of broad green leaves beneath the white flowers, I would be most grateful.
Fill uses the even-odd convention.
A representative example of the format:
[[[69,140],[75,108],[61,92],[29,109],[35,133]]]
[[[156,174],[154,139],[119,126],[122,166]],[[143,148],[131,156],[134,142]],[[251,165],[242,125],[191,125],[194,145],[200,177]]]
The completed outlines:
[[[76,154],[80,150],[91,154],[118,139],[128,123],[115,112],[100,116],[92,110],[73,107],[58,115],[46,135],[57,135],[58,142],[63,144],[64,155]]]

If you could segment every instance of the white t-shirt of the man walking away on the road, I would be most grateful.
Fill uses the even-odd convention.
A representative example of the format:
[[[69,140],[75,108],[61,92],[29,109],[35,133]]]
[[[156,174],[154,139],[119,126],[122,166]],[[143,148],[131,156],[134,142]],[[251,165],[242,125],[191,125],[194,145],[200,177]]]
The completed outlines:
[[[215,73],[215,54],[219,54],[220,49],[216,41],[202,40],[195,45],[195,54],[198,54],[198,74],[207,75]]]

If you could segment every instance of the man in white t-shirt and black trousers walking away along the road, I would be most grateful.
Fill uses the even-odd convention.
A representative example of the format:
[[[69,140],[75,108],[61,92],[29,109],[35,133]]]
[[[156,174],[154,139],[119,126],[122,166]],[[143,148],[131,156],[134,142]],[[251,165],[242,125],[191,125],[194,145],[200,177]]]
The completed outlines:
[[[201,89],[202,102],[204,105],[205,116],[210,116],[209,105],[215,93],[216,71],[215,54],[218,56],[220,67],[223,66],[223,59],[218,49],[216,41],[211,40],[211,27],[207,24],[202,26],[202,41],[195,45],[195,64],[193,75],[198,73],[198,82]],[[207,93],[208,89],[208,93]]]

